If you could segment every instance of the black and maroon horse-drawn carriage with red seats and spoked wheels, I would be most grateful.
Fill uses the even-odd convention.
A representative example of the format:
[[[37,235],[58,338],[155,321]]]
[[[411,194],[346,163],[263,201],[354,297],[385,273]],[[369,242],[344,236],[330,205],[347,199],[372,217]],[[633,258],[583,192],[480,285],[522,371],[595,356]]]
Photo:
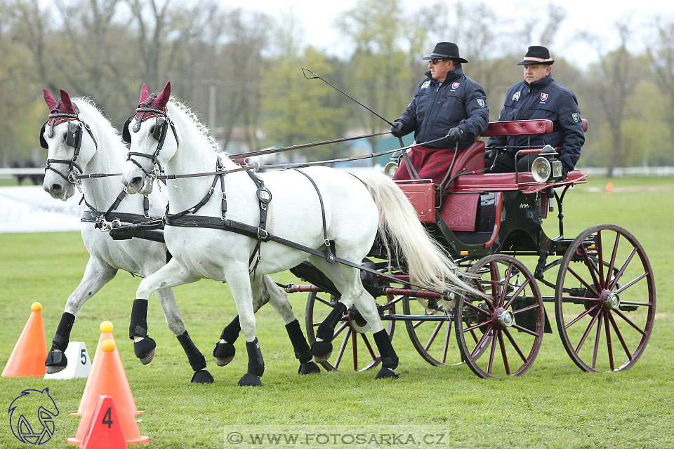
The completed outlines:
[[[550,133],[552,126],[548,120],[494,122],[482,136],[536,135]],[[455,158],[447,185],[398,182],[428,232],[489,300],[409,286],[404,260],[387,260],[377,242],[364,266],[382,275],[362,272],[363,284],[377,298],[388,335],[392,338],[395,324],[404,322],[414,348],[432,365],[465,363],[480,377],[522,375],[534,362],[543,333],[552,333],[548,303],[550,309],[554,304],[564,349],[581,370],[627,370],[653,328],[655,284],[647,255],[630,232],[616,225],[595,225],[565,237],[564,197],[585,183],[586,175],[572,170],[562,180],[550,147],[529,145],[517,156],[524,154],[539,155],[533,171],[486,173],[484,142],[477,141]],[[555,206],[559,236],[551,238],[543,220]],[[524,260],[535,263],[533,273]],[[309,292],[306,327],[313,342],[339,292],[310,262],[291,272],[310,282],[289,284],[286,291]],[[322,362],[324,368],[376,366],[379,356],[357,309],[348,309],[340,321],[334,337],[341,345]],[[452,328],[458,351],[450,343]]]

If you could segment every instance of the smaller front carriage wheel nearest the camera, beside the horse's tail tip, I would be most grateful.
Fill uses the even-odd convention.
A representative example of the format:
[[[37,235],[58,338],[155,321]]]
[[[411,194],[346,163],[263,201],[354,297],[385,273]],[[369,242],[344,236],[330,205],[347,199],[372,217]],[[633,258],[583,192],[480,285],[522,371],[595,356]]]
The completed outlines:
[[[465,363],[484,378],[526,373],[543,340],[543,300],[534,276],[502,254],[483,257],[468,272],[487,299],[462,295],[456,304],[456,340]]]

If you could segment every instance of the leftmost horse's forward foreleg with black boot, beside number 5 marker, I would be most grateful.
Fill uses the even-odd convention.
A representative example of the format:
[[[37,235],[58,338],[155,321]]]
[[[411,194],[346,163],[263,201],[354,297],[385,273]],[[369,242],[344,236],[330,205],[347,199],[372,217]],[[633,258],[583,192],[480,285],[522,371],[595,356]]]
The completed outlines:
[[[65,303],[65,311],[61,315],[61,320],[52,339],[51,349],[44,361],[46,373],[58,373],[65,369],[68,361],[64,351],[68,347],[68,342],[70,342],[70,330],[77,312],[86,300],[95,295],[110,279],[114,278],[115,274],[117,274],[117,269],[104,264],[95,257],[89,257],[79,286],[75,288]]]

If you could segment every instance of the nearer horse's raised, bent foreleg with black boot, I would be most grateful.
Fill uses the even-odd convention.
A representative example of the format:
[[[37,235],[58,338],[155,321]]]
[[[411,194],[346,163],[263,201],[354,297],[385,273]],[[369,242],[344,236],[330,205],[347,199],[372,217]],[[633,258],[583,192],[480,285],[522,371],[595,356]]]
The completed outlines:
[[[133,352],[140,359],[140,363],[143,365],[150,363],[154,358],[154,348],[157,347],[154,340],[147,335],[147,299],[160,288],[171,288],[198,280],[197,276],[185,272],[173,258],[164,267],[140,282],[136,291],[137,299],[133,300],[131,321],[128,326],[128,337],[133,340]]]

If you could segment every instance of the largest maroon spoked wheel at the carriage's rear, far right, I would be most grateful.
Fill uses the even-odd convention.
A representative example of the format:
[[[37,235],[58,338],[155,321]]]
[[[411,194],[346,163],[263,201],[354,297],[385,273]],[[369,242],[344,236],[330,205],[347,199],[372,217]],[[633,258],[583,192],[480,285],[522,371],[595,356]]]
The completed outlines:
[[[586,229],[562,259],[555,289],[557,329],[581,370],[627,370],[653,330],[655,281],[644,248],[616,225]]]

